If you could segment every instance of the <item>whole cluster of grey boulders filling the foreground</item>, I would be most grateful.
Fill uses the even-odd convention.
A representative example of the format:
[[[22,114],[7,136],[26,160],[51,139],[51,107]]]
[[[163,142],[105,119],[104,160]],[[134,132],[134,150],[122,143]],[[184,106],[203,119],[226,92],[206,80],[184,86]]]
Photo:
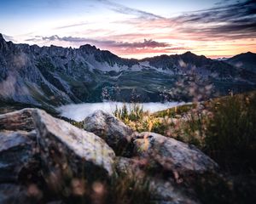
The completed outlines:
[[[200,203],[183,179],[218,172],[194,146],[133,132],[102,111],[84,130],[38,109],[0,115],[0,144],[0,203],[105,203],[123,175],[147,181],[152,203]]]

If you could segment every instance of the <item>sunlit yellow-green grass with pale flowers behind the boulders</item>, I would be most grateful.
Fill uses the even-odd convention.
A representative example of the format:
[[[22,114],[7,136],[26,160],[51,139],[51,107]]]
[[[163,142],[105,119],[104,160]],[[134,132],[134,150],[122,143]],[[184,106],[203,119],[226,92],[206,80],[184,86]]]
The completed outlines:
[[[195,104],[180,105],[166,111],[149,114],[143,111],[142,106],[134,104],[130,107],[127,105],[123,105],[122,108],[116,107],[113,114],[134,131],[160,133],[189,144],[199,145],[204,117],[199,113],[190,113],[196,107]]]

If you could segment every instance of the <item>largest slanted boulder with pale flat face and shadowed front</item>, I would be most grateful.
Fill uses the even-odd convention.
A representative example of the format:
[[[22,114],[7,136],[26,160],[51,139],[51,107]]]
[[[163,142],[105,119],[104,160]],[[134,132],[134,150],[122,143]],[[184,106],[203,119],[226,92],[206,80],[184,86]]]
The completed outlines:
[[[44,177],[53,190],[66,186],[73,178],[93,181],[113,174],[113,150],[94,133],[49,116],[33,112],[38,130]]]

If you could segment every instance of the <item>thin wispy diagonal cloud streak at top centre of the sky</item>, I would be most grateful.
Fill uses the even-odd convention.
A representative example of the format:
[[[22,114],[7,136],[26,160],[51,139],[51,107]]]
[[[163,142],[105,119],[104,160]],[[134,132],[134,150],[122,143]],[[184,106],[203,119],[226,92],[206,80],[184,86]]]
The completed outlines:
[[[111,10],[113,10],[113,11],[119,13],[119,14],[136,15],[137,17],[143,18],[143,19],[163,19],[163,17],[160,16],[160,15],[148,13],[146,11],[139,10],[139,9],[136,9],[136,8],[126,7],[122,4],[113,3],[113,2],[108,1],[108,0],[97,0],[97,1],[107,5],[108,8],[110,8]]]

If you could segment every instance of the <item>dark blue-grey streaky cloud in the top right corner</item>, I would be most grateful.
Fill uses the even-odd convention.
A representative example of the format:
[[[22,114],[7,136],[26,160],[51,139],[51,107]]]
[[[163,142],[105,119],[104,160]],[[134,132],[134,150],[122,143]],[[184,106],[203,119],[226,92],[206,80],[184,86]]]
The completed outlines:
[[[241,39],[256,37],[256,3],[253,0],[220,5],[184,14],[173,19],[182,27],[178,31],[198,34],[199,38]],[[202,39],[201,38],[201,39]]]

